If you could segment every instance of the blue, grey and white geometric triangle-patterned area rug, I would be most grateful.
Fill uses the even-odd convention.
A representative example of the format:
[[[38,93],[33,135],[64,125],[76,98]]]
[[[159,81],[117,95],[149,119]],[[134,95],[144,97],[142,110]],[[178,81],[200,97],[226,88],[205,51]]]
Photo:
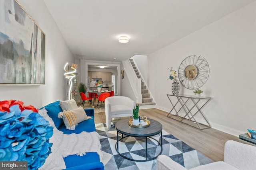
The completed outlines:
[[[156,170],[156,159],[147,162],[135,162],[120,156],[115,149],[116,129],[114,125],[111,128],[106,127],[106,123],[95,125],[96,131],[100,135],[103,160],[105,170]],[[120,134],[119,134],[120,135]],[[186,169],[194,168],[199,165],[211,163],[208,157],[188,146],[186,143],[162,130],[162,154],[169,156],[172,160],[178,162]],[[160,134],[153,136],[159,141]],[[120,138],[121,139],[121,135]],[[145,138],[127,137],[119,141],[119,152],[128,158],[140,160],[145,159],[146,144]],[[160,153],[159,144],[148,138],[148,158],[154,158]]]

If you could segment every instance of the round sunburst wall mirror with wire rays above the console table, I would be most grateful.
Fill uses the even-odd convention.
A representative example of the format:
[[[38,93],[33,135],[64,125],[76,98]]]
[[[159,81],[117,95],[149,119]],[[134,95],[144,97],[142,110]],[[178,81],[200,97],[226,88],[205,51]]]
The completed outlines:
[[[178,70],[181,84],[190,90],[202,87],[208,76],[209,65],[204,57],[200,55],[188,56],[181,62]]]

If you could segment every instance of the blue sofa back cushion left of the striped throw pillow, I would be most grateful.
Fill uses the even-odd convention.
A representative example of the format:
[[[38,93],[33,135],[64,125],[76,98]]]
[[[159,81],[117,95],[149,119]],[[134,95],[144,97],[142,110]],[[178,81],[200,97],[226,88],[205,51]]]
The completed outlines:
[[[64,124],[63,120],[58,118],[58,114],[62,111],[60,101],[48,104],[44,106],[44,108],[47,110],[47,114],[52,118],[52,121],[54,121],[56,128],[59,129],[60,126]]]

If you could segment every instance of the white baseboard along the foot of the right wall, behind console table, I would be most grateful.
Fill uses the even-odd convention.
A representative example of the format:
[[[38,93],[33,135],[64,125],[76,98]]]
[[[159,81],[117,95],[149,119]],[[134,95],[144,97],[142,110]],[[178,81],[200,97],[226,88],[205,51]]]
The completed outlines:
[[[170,109],[167,109],[167,108],[161,107],[161,106],[156,106],[156,109],[160,109],[162,111],[166,111],[167,112],[166,116],[170,112]],[[181,116],[184,116],[184,115],[181,114]],[[207,124],[206,121],[203,120],[203,119],[196,119],[196,121],[198,121],[200,123]],[[209,121],[209,123],[210,123],[210,125],[212,125],[213,129],[216,129],[218,131],[222,131],[222,132],[228,133],[228,134],[236,136],[236,137],[239,137],[239,135],[241,135],[243,133],[246,133],[246,132],[243,132],[243,131],[239,131],[237,129],[232,129],[230,127],[226,127],[226,126],[220,125],[218,123],[211,122],[211,121]]]

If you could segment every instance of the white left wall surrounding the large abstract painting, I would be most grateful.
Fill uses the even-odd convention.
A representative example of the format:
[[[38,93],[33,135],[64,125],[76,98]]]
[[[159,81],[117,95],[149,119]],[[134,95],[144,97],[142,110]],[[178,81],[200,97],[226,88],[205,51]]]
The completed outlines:
[[[43,0],[18,0],[33,20],[46,34],[46,79],[40,86],[0,86],[0,101],[21,100],[24,105],[37,108],[57,100],[66,100],[64,65],[73,63],[68,49]]]

